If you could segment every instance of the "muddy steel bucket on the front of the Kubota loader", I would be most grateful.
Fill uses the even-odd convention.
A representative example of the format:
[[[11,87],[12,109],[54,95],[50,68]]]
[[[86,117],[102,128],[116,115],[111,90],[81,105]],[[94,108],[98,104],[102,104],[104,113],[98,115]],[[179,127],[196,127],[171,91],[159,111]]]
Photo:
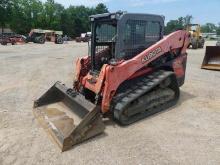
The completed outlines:
[[[83,104],[83,96],[68,95],[68,88],[61,84],[56,83],[48,91],[37,100],[41,106],[35,106],[33,113],[62,151],[104,131],[100,109],[96,105],[87,100]]]

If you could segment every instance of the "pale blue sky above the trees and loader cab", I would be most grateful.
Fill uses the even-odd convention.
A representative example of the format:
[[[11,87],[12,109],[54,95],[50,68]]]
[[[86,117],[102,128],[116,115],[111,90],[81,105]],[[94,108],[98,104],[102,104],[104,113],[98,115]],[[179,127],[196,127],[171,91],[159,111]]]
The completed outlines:
[[[45,1],[45,0],[43,0]],[[166,22],[187,14],[193,23],[220,23],[220,0],[55,0],[69,5],[95,6],[104,3],[110,12],[118,10],[132,13],[164,15]]]

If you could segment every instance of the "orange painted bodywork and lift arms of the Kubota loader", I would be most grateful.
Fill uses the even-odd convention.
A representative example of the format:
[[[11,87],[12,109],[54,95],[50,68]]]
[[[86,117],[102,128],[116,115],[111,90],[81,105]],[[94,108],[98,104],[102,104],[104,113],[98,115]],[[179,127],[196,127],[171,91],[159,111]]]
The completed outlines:
[[[120,84],[128,79],[152,71],[152,68],[147,67],[147,65],[167,52],[181,48],[181,54],[186,55],[188,44],[188,32],[183,30],[173,32],[132,59],[120,61],[115,66],[104,64],[98,77],[89,73],[91,61],[89,57],[84,57],[77,61],[74,88],[79,90],[82,86],[96,94],[100,94],[102,96],[101,110],[103,113],[108,112],[111,100]],[[182,75],[185,72],[181,65],[183,58],[185,57],[177,58],[175,64],[173,64],[174,72],[177,75]]]

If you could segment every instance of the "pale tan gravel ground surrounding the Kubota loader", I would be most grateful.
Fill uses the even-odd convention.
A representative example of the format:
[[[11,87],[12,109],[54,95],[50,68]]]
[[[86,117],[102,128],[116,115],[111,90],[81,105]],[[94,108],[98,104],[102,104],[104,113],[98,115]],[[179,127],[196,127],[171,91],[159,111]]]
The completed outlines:
[[[58,80],[72,86],[87,44],[0,45],[0,164],[220,164],[220,72],[200,69],[204,52],[188,50],[175,107],[128,127],[110,122],[61,153],[34,119],[33,100]]]

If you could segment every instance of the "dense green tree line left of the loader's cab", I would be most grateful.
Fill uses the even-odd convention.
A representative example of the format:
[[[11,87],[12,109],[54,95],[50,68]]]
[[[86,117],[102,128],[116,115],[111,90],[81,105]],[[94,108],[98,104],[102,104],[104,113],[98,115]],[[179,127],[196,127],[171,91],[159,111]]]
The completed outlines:
[[[89,16],[108,12],[100,3],[96,7],[69,6],[47,0],[1,0],[0,26],[11,28],[19,34],[27,34],[31,29],[62,30],[71,37],[90,31]]]

